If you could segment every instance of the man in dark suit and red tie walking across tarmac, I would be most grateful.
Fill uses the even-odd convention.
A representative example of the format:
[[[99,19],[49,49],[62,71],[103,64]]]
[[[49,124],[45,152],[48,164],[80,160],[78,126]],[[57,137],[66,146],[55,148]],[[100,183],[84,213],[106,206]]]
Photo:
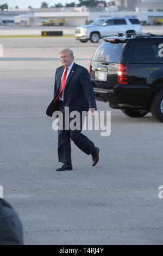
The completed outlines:
[[[93,86],[87,69],[74,63],[73,52],[66,48],[60,52],[62,66],[55,72],[54,99],[47,108],[47,115],[52,117],[55,111],[61,111],[65,115],[65,107],[69,107],[69,112],[78,111],[82,120],[83,111],[91,114],[96,110],[96,101],[93,94]],[[72,118],[68,119],[68,123]],[[59,162],[64,163],[57,171],[72,170],[71,142],[70,139],[87,155],[92,155],[92,166],[99,160],[99,149],[95,147],[80,129],[58,130],[58,156]]]

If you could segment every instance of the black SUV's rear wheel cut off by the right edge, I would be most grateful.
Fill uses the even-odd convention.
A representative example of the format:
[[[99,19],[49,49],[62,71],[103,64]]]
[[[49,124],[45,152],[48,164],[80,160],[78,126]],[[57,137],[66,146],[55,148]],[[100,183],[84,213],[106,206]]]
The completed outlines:
[[[163,89],[154,94],[151,102],[151,113],[156,120],[163,123]]]

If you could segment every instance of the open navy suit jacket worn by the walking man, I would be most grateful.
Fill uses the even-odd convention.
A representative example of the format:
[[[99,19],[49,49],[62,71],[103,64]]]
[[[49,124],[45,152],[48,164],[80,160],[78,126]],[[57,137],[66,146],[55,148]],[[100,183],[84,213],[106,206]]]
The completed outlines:
[[[54,99],[46,111],[49,117],[52,117],[54,111],[59,110],[59,100],[55,103],[54,100],[60,90],[60,82],[64,68],[64,66],[60,66],[55,72]],[[89,72],[83,66],[76,63],[73,64],[66,79],[64,106],[69,107],[70,112],[79,111],[80,113],[82,113],[82,111],[89,111],[89,108],[97,109]]]

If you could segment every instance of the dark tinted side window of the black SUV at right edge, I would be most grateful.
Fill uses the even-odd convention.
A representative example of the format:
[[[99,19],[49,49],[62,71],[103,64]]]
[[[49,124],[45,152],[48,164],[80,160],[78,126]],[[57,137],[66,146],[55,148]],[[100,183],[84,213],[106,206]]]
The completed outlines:
[[[139,63],[163,63],[163,42],[137,45],[134,56],[130,59]]]

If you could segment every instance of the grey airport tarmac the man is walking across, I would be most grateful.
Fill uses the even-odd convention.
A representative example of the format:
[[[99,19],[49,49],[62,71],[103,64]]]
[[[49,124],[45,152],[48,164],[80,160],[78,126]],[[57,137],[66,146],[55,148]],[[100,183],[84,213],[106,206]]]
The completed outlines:
[[[73,38],[0,39],[0,185],[23,223],[26,245],[162,245],[162,124],[126,117],[108,103],[111,135],[84,131],[100,148],[97,166],[72,143],[73,170],[55,172],[57,131],[46,108],[59,51],[89,68],[98,44]]]

